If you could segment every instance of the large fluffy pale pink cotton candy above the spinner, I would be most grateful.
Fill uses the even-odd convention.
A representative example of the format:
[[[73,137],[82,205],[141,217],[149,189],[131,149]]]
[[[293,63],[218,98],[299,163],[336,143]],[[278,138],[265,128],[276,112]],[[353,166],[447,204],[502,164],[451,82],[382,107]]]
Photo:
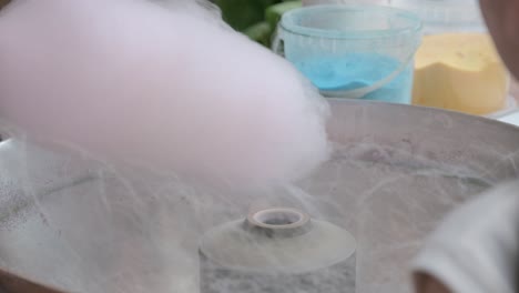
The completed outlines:
[[[292,65],[192,8],[16,1],[0,64],[4,123],[109,162],[264,183],[328,152],[326,103]]]

